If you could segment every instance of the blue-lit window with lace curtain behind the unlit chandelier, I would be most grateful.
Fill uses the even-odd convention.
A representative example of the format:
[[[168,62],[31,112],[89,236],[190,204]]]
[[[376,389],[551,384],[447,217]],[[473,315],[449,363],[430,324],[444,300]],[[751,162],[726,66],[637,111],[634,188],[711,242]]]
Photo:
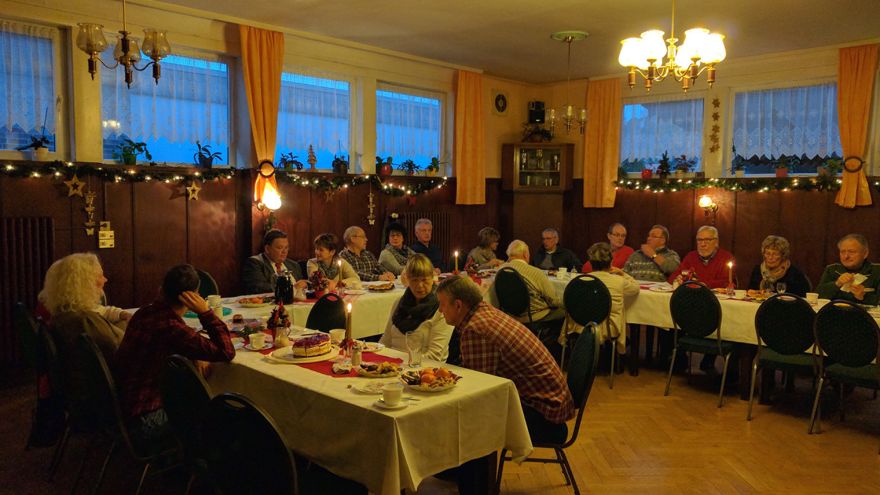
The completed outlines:
[[[113,53],[114,47],[106,49]],[[160,61],[158,84],[151,70],[135,73],[129,89],[121,68],[101,70],[104,158],[112,159],[122,138],[147,144],[155,162],[194,163],[195,142],[229,163],[229,70],[206,55],[177,53]],[[139,157],[143,159],[143,157]]]

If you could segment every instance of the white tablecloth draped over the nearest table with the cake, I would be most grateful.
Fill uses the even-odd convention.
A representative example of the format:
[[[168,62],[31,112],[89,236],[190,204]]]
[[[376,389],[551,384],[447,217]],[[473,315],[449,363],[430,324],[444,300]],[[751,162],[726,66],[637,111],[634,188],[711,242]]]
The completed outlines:
[[[406,361],[401,352],[382,353]],[[427,359],[423,364],[441,366]],[[373,403],[380,395],[348,388],[369,379],[334,378],[245,350],[213,366],[208,381],[215,394],[237,392],[260,404],[297,454],[373,493],[399,495],[401,488],[415,490],[425,477],[502,447],[517,462],[532,452],[512,381],[442,366],[463,379],[435,394],[405,389],[405,396],[422,400],[402,410],[379,409]]]

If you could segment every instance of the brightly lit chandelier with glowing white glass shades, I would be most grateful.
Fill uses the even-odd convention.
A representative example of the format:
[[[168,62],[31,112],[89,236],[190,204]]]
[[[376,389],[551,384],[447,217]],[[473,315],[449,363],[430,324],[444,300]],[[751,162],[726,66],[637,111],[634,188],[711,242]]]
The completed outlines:
[[[671,35],[665,43],[663,35],[663,31],[651,30],[642,33],[641,38],[620,41],[623,47],[620,48],[618,61],[629,69],[629,91],[633,91],[636,72],[645,78],[645,88],[649,92],[654,81],[659,83],[670,76],[681,81],[682,89],[687,92],[704,70],[706,82],[711,88],[715,82],[715,63],[721,62],[727,55],[724,36],[696,27],[685,32],[685,42],[681,47],[676,46],[675,0],[672,0]]]

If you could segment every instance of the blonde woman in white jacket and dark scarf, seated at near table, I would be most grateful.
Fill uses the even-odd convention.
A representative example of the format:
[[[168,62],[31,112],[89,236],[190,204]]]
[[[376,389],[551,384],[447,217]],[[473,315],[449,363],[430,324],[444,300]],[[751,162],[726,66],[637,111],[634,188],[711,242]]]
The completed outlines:
[[[391,309],[380,344],[407,352],[407,332],[418,332],[424,338],[422,355],[436,361],[449,357],[452,327],[439,311],[434,290],[434,265],[426,255],[413,255],[404,270],[409,287]]]

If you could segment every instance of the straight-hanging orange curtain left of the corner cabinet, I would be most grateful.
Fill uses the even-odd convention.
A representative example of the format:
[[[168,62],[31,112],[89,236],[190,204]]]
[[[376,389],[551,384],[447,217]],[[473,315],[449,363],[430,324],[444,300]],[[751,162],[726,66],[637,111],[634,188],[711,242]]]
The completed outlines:
[[[486,204],[483,77],[458,70],[455,93],[456,204]]]

